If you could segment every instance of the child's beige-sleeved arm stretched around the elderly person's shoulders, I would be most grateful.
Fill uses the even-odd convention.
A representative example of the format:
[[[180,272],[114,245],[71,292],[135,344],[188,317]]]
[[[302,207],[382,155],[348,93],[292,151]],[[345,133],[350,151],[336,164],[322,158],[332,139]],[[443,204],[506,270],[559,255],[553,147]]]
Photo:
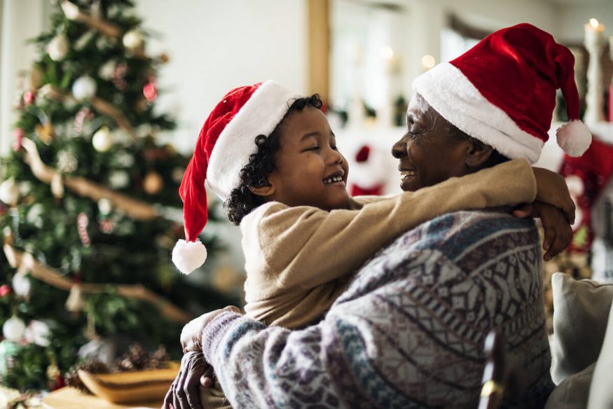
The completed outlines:
[[[461,178],[405,192],[361,210],[326,212],[314,207],[271,203],[241,224],[247,263],[266,263],[267,277],[247,282],[261,298],[301,286],[305,289],[347,275],[380,247],[406,230],[442,214],[532,202],[537,184],[525,160],[511,160]],[[251,223],[250,221],[255,221]],[[263,258],[263,261],[262,261]]]

